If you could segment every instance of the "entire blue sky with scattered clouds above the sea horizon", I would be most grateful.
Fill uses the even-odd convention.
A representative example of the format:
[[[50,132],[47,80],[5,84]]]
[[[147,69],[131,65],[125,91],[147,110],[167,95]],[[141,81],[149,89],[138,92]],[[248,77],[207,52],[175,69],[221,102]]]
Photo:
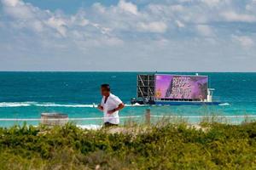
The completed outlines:
[[[256,0],[0,0],[0,71],[256,71]]]

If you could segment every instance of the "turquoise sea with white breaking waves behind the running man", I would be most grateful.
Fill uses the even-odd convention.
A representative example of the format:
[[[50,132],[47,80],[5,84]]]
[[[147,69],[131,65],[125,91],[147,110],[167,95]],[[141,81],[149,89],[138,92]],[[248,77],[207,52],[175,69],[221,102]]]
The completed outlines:
[[[178,73],[195,74],[195,73]],[[216,106],[131,106],[120,116],[154,115],[233,116],[256,115],[256,73],[200,73],[210,77]],[[99,87],[111,85],[113,94],[125,104],[136,96],[137,72],[0,72],[0,118],[39,118],[42,112],[61,112],[69,117],[100,117],[93,108],[101,100]],[[9,126],[17,122],[0,122]],[[38,122],[28,122],[38,124]],[[79,124],[99,124],[84,121]]]

